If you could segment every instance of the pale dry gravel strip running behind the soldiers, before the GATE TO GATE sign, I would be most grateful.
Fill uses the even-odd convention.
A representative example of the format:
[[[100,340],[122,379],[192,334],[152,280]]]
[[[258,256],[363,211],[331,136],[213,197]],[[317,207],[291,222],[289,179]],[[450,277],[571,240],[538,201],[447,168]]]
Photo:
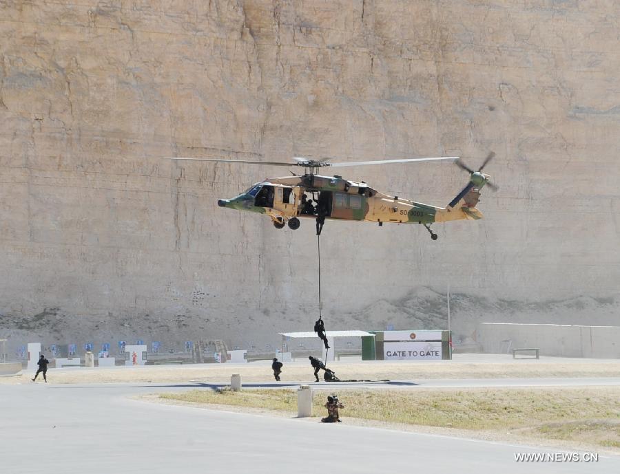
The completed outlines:
[[[485,358],[485,360],[487,360]],[[500,362],[383,362],[340,361],[329,363],[341,380],[415,380],[433,378],[537,378],[537,377],[620,377],[620,361],[561,359]],[[231,374],[240,374],[243,383],[271,383],[273,373],[267,362],[249,364],[160,365],[143,367],[102,367],[94,369],[50,369],[50,383],[132,383],[132,382],[187,382],[229,383]],[[23,376],[0,377],[0,384],[24,383],[30,372]],[[285,363],[282,382],[313,380],[309,363]]]

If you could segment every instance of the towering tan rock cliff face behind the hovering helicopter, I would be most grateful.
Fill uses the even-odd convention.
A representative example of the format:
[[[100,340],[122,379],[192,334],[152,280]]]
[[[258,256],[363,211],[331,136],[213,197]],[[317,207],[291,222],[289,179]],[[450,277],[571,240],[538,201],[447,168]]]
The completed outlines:
[[[311,328],[313,226],[276,230],[216,206],[282,169],[161,159],[173,155],[460,155],[475,167],[493,150],[485,171],[501,188],[485,190],[486,219],[436,226],[436,242],[418,226],[326,224],[328,329],[439,326],[448,283],[468,302],[453,308],[457,332],[476,320],[617,323],[616,1],[0,0],[0,11],[0,331],[12,344],[264,347]],[[467,180],[446,164],[347,171],[440,205]]]

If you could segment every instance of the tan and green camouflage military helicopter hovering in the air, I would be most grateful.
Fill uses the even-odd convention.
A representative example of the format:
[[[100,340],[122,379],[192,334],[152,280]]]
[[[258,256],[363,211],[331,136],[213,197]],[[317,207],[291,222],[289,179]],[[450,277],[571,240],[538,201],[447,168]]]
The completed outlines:
[[[278,229],[288,225],[292,230],[300,227],[301,219],[315,219],[316,233],[320,235],[325,219],[345,219],[349,221],[384,222],[394,224],[422,224],[431,239],[437,234],[431,230],[435,222],[448,222],[459,219],[482,219],[476,208],[480,190],[487,185],[497,189],[489,182],[490,176],[482,169],[493,158],[491,152],[477,171],[466,166],[458,157],[406,158],[402,160],[376,160],[360,162],[329,162],[331,158],[311,160],[293,158],[292,162],[269,162],[258,160],[227,160],[218,158],[168,158],[169,160],[192,160],[203,162],[224,162],[238,164],[262,164],[269,166],[300,166],[303,175],[273,177],[250,186],[247,191],[232,199],[218,200],[218,206],[266,214],[273,226]],[[320,176],[316,172],[327,166],[367,166],[395,163],[450,161],[469,173],[469,182],[446,207],[436,207],[421,202],[401,199],[377,191],[365,182],[345,180],[342,176]]]

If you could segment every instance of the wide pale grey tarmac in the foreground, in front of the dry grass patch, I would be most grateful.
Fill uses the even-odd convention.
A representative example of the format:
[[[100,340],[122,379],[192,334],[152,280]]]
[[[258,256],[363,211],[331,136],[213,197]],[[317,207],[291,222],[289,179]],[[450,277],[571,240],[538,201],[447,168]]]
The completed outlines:
[[[598,462],[516,462],[516,453],[566,451],[353,427],[346,422],[321,424],[307,419],[173,407],[129,398],[193,387],[195,383],[0,386],[0,471],[620,472],[620,456],[599,455]],[[583,460],[581,455],[576,457]]]

